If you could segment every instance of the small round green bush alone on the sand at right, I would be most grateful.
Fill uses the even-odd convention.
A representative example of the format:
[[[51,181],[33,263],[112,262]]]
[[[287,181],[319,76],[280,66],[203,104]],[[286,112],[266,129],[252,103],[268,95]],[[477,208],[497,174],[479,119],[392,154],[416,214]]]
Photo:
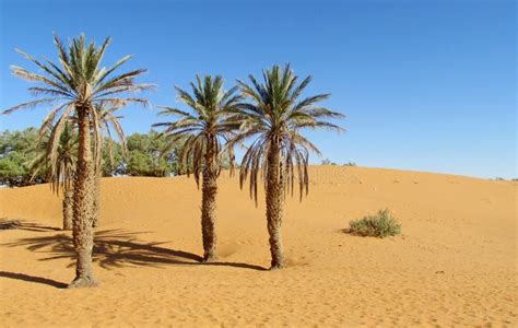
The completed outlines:
[[[389,210],[379,210],[375,215],[351,221],[350,226],[349,233],[355,236],[385,238],[401,234],[401,224]]]

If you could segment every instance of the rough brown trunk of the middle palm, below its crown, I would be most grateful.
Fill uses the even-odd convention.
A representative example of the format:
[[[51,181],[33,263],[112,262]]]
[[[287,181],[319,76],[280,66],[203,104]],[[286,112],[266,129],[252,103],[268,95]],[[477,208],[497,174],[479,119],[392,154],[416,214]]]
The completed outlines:
[[[212,142],[209,142],[212,144]],[[215,198],[217,194],[217,174],[214,168],[214,149],[210,147],[205,155],[203,168],[203,186],[201,196],[201,233],[203,236],[203,261],[217,258],[215,234]]]

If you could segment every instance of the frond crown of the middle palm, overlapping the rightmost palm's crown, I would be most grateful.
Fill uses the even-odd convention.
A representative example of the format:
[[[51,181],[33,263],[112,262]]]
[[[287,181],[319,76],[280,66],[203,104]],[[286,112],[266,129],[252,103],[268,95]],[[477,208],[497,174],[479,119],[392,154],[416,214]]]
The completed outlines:
[[[163,133],[173,142],[184,138],[185,142],[179,154],[179,165],[183,171],[190,173],[199,184],[199,176],[207,161],[213,162],[213,168],[221,169],[221,156],[225,153],[233,160],[233,150],[222,147],[235,136],[239,124],[232,119],[232,113],[237,110],[242,101],[236,94],[237,86],[224,91],[224,81],[217,75],[205,75],[203,80],[197,75],[197,83],[190,83],[193,96],[176,86],[178,99],[186,104],[190,112],[174,107],[161,107],[161,115],[175,115],[176,121],[155,124],[154,127],[165,127]],[[226,151],[226,152],[224,152]],[[232,162],[232,161],[231,161]]]

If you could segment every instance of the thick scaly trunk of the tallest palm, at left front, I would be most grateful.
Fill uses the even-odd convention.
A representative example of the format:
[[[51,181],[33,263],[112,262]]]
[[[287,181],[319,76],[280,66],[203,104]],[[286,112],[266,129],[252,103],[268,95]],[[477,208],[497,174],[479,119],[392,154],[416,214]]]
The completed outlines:
[[[95,286],[92,273],[92,250],[94,247],[94,232],[92,229],[93,195],[93,159],[90,144],[89,108],[76,108],[79,116],[79,150],[78,166],[74,180],[73,198],[73,245],[76,254],[75,279],[69,288]]]

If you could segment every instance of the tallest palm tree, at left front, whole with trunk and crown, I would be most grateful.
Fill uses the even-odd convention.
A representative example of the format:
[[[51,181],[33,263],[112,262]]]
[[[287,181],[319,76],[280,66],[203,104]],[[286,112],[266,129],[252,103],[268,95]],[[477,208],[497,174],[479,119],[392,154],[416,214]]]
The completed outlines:
[[[51,110],[43,121],[42,129],[54,126],[50,136],[50,152],[58,148],[59,139],[64,130],[66,122],[70,116],[76,117],[76,129],[79,134],[78,164],[75,167],[76,178],[74,180],[73,197],[73,242],[76,253],[75,279],[69,288],[94,286],[97,284],[92,272],[92,249],[94,233],[92,230],[94,186],[94,157],[92,145],[97,148],[102,141],[98,127],[99,113],[96,105],[106,104],[114,107],[122,107],[129,103],[146,105],[146,101],[140,97],[126,96],[127,92],[146,90],[152,85],[136,84],[134,80],[145,70],[132,70],[119,75],[114,71],[123,65],[131,56],[118,60],[110,68],[101,68],[101,62],[110,38],[96,47],[94,42],[89,45],[84,35],[73,38],[68,47],[55,36],[55,45],[59,55],[59,63],[48,59],[43,61],[20,51],[26,59],[35,63],[43,72],[30,72],[21,67],[11,67],[12,72],[19,78],[37,82],[38,86],[28,90],[35,96],[46,95],[37,99],[20,104],[3,112],[10,114],[22,108],[38,105],[51,105]],[[92,139],[94,142],[92,142]],[[94,153],[97,150],[94,149]],[[55,159],[51,157],[51,161]]]

